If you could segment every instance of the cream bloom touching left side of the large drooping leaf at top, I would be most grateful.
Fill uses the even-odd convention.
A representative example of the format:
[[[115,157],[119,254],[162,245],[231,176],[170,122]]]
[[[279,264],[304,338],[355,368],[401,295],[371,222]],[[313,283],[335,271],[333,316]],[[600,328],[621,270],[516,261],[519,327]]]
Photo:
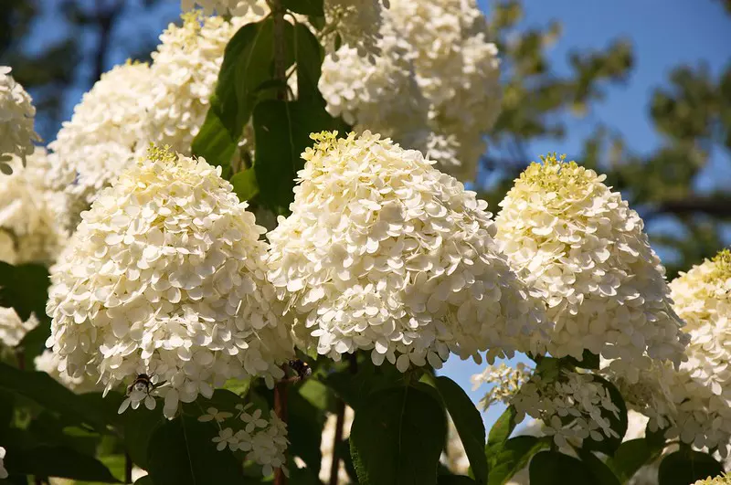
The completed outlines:
[[[263,18],[260,9],[227,21],[221,16],[183,15],[183,25],[170,24],[153,52],[154,86],[143,104],[152,120],[149,140],[189,154],[190,145],[206,119],[210,97],[228,41],[238,27]]]

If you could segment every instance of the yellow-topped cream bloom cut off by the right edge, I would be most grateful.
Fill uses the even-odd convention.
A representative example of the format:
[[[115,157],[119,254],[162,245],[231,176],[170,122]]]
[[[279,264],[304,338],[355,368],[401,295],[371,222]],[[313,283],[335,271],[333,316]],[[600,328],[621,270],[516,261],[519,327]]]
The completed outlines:
[[[706,259],[670,284],[675,310],[691,337],[671,385],[677,406],[668,436],[680,436],[696,448],[731,446],[731,251]]]

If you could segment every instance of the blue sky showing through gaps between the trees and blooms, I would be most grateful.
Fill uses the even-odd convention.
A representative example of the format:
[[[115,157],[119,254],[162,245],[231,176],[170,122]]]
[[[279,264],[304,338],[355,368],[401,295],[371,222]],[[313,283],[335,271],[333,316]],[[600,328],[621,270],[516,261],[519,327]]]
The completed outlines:
[[[51,2],[48,5],[57,5]],[[140,0],[130,0],[131,11],[115,29],[115,48],[111,64],[124,61],[130,46],[135,46],[142,33],[160,32],[178,13],[177,0],[163,0],[152,12],[144,12]],[[481,1],[490,14],[489,3]],[[649,152],[662,142],[653,131],[648,116],[648,100],[652,89],[663,85],[674,66],[697,66],[705,62],[717,74],[731,60],[731,16],[727,16],[719,0],[524,0],[525,18],[521,27],[545,26],[551,19],[563,23],[563,35],[549,51],[549,58],[558,73],[567,71],[567,54],[574,49],[601,48],[612,39],[630,39],[635,53],[635,67],[623,86],[607,90],[606,100],[595,106],[583,119],[567,116],[568,136],[563,142],[535,142],[528,147],[533,159],[541,153],[560,152],[569,156],[580,151],[582,140],[599,121],[624,135],[631,150]],[[33,49],[47,44],[63,33],[54,20],[54,8],[47,9],[44,20],[37,25],[35,36],[27,47]],[[93,33],[87,34],[93,36]],[[58,36],[58,37],[57,37]],[[90,40],[93,37],[90,37]],[[87,66],[85,63],[84,66]],[[79,102],[89,76],[82,69],[78,87],[71,90],[67,100],[67,118]],[[704,190],[731,183],[729,153],[716,151],[712,163],[698,181]],[[450,375],[477,402],[484,389],[471,391],[470,376],[481,366],[452,358],[443,374]],[[492,425],[502,412],[494,406],[485,415]]]

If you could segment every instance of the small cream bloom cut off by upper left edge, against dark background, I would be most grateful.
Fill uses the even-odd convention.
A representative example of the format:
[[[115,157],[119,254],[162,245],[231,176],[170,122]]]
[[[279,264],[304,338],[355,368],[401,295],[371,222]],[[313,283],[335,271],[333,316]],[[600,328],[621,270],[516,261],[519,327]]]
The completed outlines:
[[[0,66],[0,166],[8,174],[8,160],[17,155],[22,160],[33,153],[33,142],[40,141],[34,130],[36,108],[30,95],[10,75],[12,69]]]

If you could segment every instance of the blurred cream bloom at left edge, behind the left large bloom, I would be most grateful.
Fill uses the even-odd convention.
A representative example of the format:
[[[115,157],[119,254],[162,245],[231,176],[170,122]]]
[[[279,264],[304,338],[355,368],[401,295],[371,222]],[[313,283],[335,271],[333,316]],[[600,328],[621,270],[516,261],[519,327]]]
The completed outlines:
[[[64,196],[48,188],[48,157],[38,148],[23,167],[10,161],[13,174],[0,176],[0,260],[10,264],[52,263],[66,243],[59,206]],[[10,242],[10,244],[8,243]]]

